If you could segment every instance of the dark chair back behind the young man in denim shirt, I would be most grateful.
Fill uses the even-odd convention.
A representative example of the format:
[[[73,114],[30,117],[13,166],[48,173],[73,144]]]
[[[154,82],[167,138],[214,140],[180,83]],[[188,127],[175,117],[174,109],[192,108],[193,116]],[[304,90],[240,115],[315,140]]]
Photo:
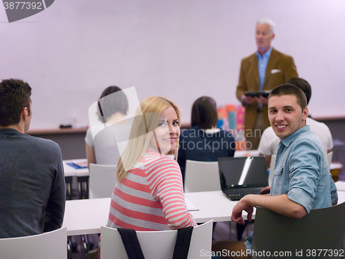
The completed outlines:
[[[320,249],[340,251],[345,233],[345,202],[322,209],[312,209],[303,218],[287,218],[262,207],[257,207],[253,234],[253,251],[268,251],[271,256],[275,251],[286,251],[291,254],[279,255],[276,258],[328,258]],[[317,251],[317,255],[308,256],[308,251]],[[296,254],[303,251],[303,256]],[[328,253],[327,253],[328,255]],[[335,254],[333,253],[333,256]],[[259,258],[259,253],[253,258]],[[268,258],[269,256],[267,256]],[[262,257],[261,257],[262,258]],[[335,257],[339,258],[335,255]]]

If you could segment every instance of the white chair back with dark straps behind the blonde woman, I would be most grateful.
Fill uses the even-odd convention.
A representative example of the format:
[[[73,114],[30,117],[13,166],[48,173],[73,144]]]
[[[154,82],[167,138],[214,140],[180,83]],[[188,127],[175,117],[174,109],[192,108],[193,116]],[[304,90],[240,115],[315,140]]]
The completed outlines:
[[[210,220],[204,224],[194,227],[188,259],[211,258],[212,244],[212,222]],[[168,231],[137,231],[137,237],[145,258],[149,259],[169,259],[175,247],[177,230]],[[126,249],[117,229],[101,227],[101,259],[128,259]]]

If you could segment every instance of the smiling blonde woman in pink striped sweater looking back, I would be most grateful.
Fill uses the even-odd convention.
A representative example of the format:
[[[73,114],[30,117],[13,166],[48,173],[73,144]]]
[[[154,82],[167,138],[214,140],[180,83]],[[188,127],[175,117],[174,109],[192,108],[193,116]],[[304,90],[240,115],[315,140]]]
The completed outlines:
[[[136,231],[195,226],[186,209],[177,155],[179,110],[169,99],[148,97],[141,102],[130,140],[117,165],[108,227]]]

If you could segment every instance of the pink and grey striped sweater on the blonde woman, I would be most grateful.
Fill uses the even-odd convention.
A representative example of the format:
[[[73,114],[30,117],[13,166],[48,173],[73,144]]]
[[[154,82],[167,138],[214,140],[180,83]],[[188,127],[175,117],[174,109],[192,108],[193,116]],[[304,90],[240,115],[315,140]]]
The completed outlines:
[[[117,182],[108,227],[150,231],[195,225],[184,202],[179,164],[172,158],[147,151],[124,181]]]

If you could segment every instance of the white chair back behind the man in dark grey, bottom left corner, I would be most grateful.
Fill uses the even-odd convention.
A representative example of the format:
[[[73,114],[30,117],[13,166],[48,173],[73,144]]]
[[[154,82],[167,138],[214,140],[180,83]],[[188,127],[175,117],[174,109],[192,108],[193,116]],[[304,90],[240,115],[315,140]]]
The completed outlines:
[[[67,259],[66,227],[34,236],[1,238],[0,258]]]

